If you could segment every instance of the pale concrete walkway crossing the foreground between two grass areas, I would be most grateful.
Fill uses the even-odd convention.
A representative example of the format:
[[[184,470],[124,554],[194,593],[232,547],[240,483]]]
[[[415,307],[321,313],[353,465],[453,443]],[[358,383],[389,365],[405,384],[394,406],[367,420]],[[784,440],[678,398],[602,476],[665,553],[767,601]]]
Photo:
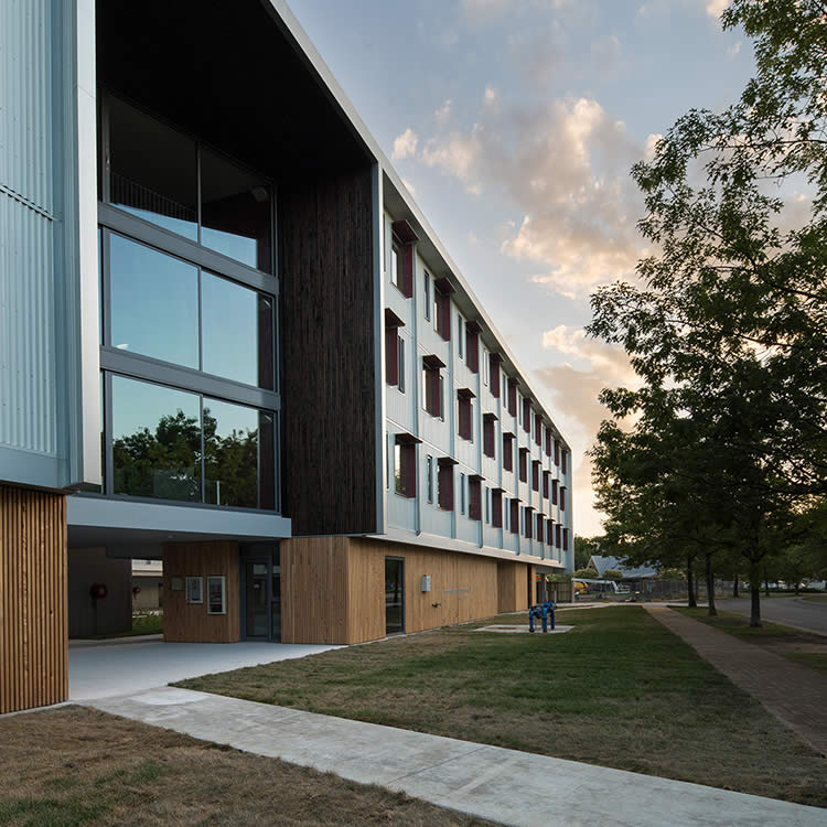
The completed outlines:
[[[824,827],[827,810],[743,793],[162,687],[105,712],[382,784],[508,825]]]

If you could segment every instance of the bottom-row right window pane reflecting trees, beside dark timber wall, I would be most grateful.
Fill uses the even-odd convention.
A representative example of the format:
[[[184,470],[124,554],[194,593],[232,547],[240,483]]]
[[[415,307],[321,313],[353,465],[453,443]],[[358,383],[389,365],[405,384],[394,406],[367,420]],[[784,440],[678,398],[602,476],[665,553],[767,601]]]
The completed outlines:
[[[204,398],[206,502],[275,508],[273,436],[271,414]]]

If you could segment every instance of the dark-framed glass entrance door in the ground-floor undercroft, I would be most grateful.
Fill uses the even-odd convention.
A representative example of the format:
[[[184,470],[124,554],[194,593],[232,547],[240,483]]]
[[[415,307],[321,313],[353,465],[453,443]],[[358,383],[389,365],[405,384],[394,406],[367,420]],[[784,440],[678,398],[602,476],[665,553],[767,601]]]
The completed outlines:
[[[281,641],[281,565],[279,549],[241,549],[241,636]]]

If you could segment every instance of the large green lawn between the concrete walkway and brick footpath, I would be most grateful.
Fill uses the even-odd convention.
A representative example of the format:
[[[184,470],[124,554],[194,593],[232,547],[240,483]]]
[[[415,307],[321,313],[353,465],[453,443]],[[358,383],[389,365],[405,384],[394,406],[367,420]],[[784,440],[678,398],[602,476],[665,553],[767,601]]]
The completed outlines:
[[[484,624],[179,684],[827,806],[827,762],[640,606],[571,610],[560,635]]]

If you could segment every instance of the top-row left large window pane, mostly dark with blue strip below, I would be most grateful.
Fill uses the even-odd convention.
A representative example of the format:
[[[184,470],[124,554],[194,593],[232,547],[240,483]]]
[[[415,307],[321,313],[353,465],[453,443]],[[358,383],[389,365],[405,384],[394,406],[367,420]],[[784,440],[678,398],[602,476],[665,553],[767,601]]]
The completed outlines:
[[[195,141],[118,98],[109,98],[110,201],[197,240]]]

